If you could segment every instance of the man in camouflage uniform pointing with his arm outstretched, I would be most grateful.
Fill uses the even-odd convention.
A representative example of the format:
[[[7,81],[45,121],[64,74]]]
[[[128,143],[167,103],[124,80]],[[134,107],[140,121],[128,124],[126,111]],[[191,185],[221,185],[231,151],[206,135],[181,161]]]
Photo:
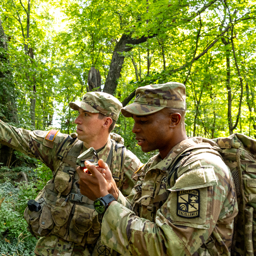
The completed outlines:
[[[124,195],[130,194],[135,183],[131,176],[141,165],[131,151],[118,143],[122,137],[111,134],[110,139],[122,107],[115,97],[89,92],[81,102],[70,102],[69,106],[79,111],[77,133],[71,136],[57,130],[17,129],[0,121],[2,144],[40,159],[53,172],[53,178],[35,199],[41,210],[27,208],[24,213],[31,233],[41,237],[35,249],[37,255],[91,255],[99,238],[101,225],[93,202],[80,194],[76,184],[76,159],[81,153],[93,147],[110,164]]]

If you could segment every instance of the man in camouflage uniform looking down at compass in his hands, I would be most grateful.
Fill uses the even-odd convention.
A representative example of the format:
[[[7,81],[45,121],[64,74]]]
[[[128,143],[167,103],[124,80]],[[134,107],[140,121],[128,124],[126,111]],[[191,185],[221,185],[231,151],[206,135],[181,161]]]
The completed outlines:
[[[91,175],[77,169],[82,194],[116,198],[105,207],[101,242],[122,255],[230,255],[238,211],[233,180],[213,141],[187,137],[185,110],[185,86],[175,82],[139,87],[122,108],[135,121],[142,151],[159,150],[135,172],[128,197],[105,163],[102,170],[86,162]]]

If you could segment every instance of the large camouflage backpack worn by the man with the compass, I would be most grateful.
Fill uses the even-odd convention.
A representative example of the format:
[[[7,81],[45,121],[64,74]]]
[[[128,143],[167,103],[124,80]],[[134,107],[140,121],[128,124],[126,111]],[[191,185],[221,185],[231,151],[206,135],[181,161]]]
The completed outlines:
[[[233,255],[256,255],[256,140],[234,133],[214,141],[234,179],[238,215],[231,252]]]

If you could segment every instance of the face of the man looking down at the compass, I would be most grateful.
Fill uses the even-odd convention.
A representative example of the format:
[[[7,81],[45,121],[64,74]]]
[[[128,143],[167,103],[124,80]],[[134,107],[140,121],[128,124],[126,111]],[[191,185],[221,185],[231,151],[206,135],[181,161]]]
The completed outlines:
[[[146,116],[132,116],[135,123],[132,132],[143,152],[159,149],[169,152],[169,118],[160,110]]]

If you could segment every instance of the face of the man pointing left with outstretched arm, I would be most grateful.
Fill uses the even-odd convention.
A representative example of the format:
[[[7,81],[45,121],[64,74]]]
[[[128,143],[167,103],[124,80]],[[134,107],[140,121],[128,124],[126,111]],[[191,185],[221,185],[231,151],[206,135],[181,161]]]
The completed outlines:
[[[77,138],[89,143],[101,135],[103,120],[100,120],[98,113],[89,113],[79,108],[79,115],[75,119]]]

